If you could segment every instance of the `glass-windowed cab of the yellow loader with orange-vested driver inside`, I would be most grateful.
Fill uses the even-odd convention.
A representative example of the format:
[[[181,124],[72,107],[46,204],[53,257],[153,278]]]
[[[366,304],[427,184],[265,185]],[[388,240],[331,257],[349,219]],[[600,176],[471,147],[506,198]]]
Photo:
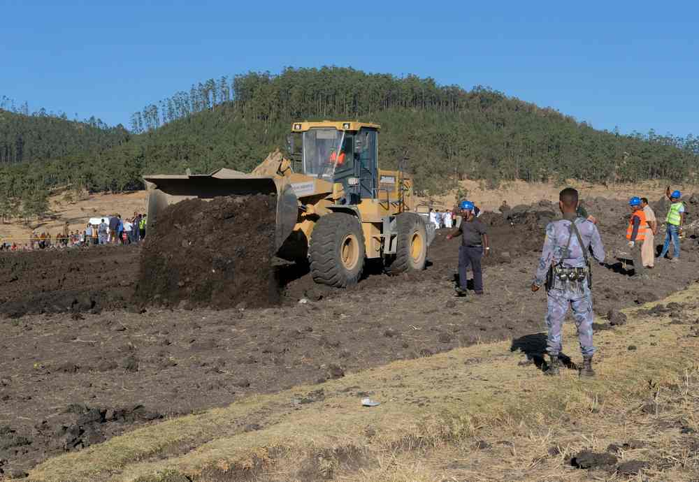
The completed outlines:
[[[292,126],[294,172],[343,184],[345,204],[375,198],[379,126],[361,122],[301,122]]]

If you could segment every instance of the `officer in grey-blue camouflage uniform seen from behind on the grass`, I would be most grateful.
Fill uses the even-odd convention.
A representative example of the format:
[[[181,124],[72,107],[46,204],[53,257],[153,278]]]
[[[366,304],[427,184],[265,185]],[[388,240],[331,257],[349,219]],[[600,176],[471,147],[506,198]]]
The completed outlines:
[[[561,326],[572,307],[577,336],[582,351],[582,377],[594,377],[592,356],[595,347],[592,344],[592,311],[591,293],[591,263],[589,249],[594,258],[602,263],[605,259],[605,249],[600,233],[591,221],[578,217],[575,210],[578,205],[578,194],[570,187],[563,189],[559,195],[559,207],[563,219],[552,221],[546,226],[546,240],[536,270],[531,291],[538,291],[546,282],[548,312],[546,326],[549,334],[547,352],[551,363],[546,374],[559,374],[559,353],[561,353]]]

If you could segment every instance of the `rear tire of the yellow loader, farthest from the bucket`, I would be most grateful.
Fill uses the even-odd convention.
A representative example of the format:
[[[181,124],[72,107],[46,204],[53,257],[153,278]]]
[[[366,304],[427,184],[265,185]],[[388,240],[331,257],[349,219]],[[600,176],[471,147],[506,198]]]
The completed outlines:
[[[419,214],[398,214],[396,233],[396,254],[387,259],[386,272],[399,275],[424,270],[427,263],[427,228]]]

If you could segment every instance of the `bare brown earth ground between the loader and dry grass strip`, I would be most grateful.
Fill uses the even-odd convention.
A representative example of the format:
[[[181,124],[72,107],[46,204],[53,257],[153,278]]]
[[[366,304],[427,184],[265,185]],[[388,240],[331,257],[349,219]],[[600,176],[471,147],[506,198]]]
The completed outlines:
[[[592,207],[607,250],[621,256],[624,203]],[[279,307],[189,311],[140,309],[127,302],[127,311],[100,311],[80,309],[80,303],[75,309],[71,302],[69,309],[47,305],[44,314],[3,321],[0,426],[6,428],[0,429],[0,458],[8,462],[0,469],[23,472],[51,455],[80,450],[160,417],[245,404],[259,393],[321,384],[393,360],[501,339],[520,338],[524,348],[540,345],[540,336],[526,337],[544,328],[544,297],[527,291],[545,225],[536,219],[530,214],[515,219],[513,227],[492,227],[493,256],[487,261],[487,294],[482,297],[454,298],[458,240],[447,242],[440,233],[424,272],[396,278],[369,275],[348,291],[321,289],[308,275],[295,279],[303,273],[287,273],[287,297]],[[693,282],[699,267],[696,240],[685,240],[684,247],[682,263],[659,261],[650,282],[629,279],[623,263],[613,258],[596,268],[596,312],[656,300]],[[118,252],[116,265],[138,262],[136,249],[73,252],[87,265],[107,255],[119,258]],[[3,261],[51,254],[10,254]],[[58,274],[76,265],[66,251],[53,255]],[[41,263],[32,266],[14,280],[11,267],[0,270],[3,294],[34,300],[52,291],[45,284],[37,284],[41,289],[36,292],[29,289],[31,277],[43,269]],[[101,282],[103,274],[97,270],[86,276],[79,279],[87,286]],[[65,278],[65,300],[72,299],[75,275]],[[124,278],[118,289],[133,289]],[[10,286],[17,283],[27,287],[25,292]],[[299,303],[300,298],[306,302]],[[603,320],[599,323],[599,330],[609,328]],[[606,355],[603,348],[600,359]],[[300,393],[298,404],[321,395]],[[256,430],[258,415],[246,416],[236,426]]]

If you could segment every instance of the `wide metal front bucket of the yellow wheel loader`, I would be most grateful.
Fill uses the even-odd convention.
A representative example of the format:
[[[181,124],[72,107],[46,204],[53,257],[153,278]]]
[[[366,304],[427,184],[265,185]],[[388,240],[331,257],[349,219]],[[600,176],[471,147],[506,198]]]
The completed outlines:
[[[294,231],[298,218],[296,194],[282,177],[254,176],[222,169],[210,175],[150,175],[143,179],[148,190],[147,230],[157,224],[161,210],[185,199],[275,194],[277,224],[274,245],[275,251],[278,251]]]

